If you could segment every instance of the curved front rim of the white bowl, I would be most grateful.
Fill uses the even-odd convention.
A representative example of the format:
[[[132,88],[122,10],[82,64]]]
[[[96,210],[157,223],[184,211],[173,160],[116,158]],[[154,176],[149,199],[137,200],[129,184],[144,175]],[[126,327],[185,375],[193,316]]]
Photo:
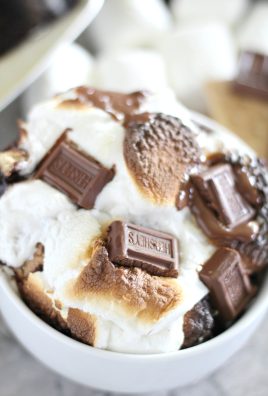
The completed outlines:
[[[45,321],[40,319],[31,309],[24,303],[19,296],[19,293],[11,285],[10,277],[0,270],[0,289],[5,293],[6,297],[10,302],[20,311],[20,313],[32,324],[37,327],[43,333],[46,333],[48,337],[52,337],[55,341],[65,344],[71,349],[77,349],[78,352],[83,354],[89,354],[92,357],[103,358],[105,360],[115,361],[161,361],[168,362],[177,359],[183,359],[185,356],[192,355],[193,357],[200,353],[207,352],[217,345],[222,345],[228,342],[228,339],[234,338],[240,334],[243,329],[247,328],[255,318],[262,317],[266,311],[268,311],[268,274],[266,279],[261,286],[259,294],[255,297],[255,300],[251,303],[247,311],[234,323],[231,327],[223,331],[218,336],[205,341],[202,344],[178,350],[175,352],[157,353],[157,354],[134,354],[134,353],[123,353],[114,352],[103,349],[98,349],[90,345],[83,344],[63,333],[59,330],[54,329],[52,326],[47,324]],[[1,308],[1,300],[0,300]]]

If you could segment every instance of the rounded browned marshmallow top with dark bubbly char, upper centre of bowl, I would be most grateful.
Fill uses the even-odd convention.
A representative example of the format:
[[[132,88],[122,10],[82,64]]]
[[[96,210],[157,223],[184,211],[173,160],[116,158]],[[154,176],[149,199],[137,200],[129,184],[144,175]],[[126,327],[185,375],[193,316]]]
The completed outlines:
[[[178,118],[164,114],[128,124],[124,155],[138,188],[157,204],[175,205],[187,175],[200,163],[194,133]]]

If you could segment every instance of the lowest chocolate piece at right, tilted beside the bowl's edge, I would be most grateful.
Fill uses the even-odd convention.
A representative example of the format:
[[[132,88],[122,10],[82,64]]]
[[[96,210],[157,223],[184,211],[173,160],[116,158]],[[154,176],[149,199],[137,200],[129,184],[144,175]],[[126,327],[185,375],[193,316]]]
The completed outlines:
[[[233,249],[218,249],[204,264],[199,277],[209,288],[212,302],[225,321],[234,320],[255,293],[240,254]]]

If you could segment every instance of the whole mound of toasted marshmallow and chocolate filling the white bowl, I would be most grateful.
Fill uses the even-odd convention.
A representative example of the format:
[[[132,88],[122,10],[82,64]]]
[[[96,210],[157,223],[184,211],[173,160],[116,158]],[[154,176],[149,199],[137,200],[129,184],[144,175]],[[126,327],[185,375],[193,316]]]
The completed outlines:
[[[22,299],[96,348],[166,353],[239,319],[268,263],[268,171],[170,92],[79,87],[0,153],[0,260]]]

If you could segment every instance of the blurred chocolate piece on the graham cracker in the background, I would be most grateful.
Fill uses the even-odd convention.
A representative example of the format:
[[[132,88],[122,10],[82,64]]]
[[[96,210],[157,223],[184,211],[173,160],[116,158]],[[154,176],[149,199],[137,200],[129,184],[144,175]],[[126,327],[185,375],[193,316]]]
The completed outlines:
[[[268,56],[242,52],[234,88],[241,93],[268,99]]]

